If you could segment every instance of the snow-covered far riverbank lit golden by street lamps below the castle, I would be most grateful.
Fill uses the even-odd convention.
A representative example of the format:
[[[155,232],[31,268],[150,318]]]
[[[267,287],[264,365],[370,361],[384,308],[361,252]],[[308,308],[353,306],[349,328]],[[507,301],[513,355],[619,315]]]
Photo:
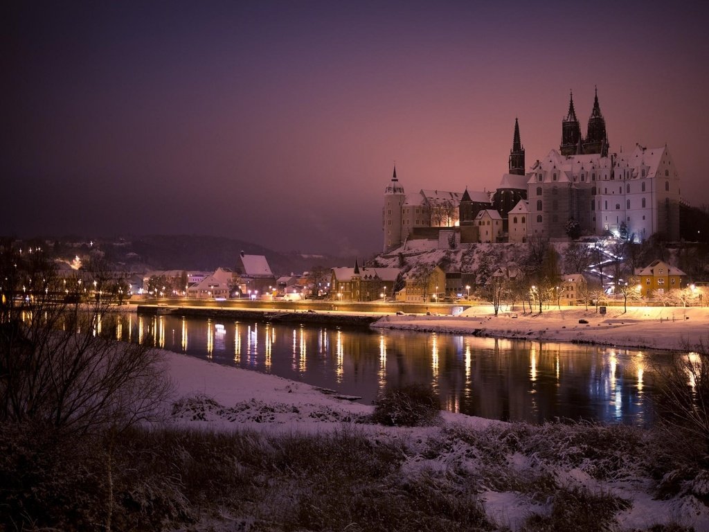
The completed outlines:
[[[539,314],[522,311],[520,304],[504,306],[498,316],[493,306],[473,306],[459,316],[385,316],[374,327],[411,331],[475,334],[530,340],[600,343],[625,347],[681,350],[687,345],[709,345],[709,308],[609,306],[605,315],[595,308],[549,307]],[[580,319],[588,323],[579,323]]]

